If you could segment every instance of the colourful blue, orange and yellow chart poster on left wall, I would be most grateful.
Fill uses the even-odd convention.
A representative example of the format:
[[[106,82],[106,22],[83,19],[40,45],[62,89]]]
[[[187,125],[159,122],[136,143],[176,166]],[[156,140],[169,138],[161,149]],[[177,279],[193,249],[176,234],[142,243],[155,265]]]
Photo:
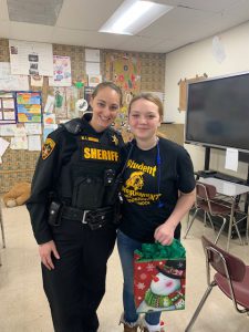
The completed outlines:
[[[17,92],[17,111],[19,123],[41,122],[41,93]]]

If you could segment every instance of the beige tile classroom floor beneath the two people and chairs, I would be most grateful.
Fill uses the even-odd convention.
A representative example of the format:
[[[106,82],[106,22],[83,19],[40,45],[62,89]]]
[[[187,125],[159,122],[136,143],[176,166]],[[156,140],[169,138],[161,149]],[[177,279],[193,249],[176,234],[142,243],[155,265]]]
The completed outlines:
[[[42,290],[39,255],[28,211],[21,206],[3,207],[2,212],[7,248],[0,249],[0,332],[52,332],[50,311]],[[183,224],[185,229],[186,225]],[[188,238],[183,240],[187,250],[186,310],[163,314],[167,332],[184,332],[205,291],[205,258],[200,243],[203,234],[214,237],[210,228],[195,221]],[[225,248],[226,236],[221,236],[220,245]],[[232,240],[230,251],[249,263],[249,246],[242,247],[238,240]],[[106,294],[98,309],[98,331],[123,331],[122,325],[118,325],[121,312],[122,274],[115,249],[108,261]],[[193,332],[195,331],[248,332],[249,317],[236,313],[231,301],[215,289],[193,328]]]

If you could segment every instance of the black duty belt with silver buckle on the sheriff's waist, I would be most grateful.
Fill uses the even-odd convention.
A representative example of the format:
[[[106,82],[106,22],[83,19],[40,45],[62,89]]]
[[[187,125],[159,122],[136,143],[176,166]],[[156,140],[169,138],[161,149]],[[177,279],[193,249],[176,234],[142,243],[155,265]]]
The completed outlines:
[[[87,224],[94,230],[113,220],[114,208],[103,207],[95,210],[82,210],[71,206],[63,206],[61,217]]]

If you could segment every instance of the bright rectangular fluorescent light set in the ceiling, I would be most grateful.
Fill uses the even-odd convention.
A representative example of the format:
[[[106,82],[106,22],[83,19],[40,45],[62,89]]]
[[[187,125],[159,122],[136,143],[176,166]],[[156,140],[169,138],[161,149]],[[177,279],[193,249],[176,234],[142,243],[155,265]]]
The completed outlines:
[[[152,1],[125,0],[100,32],[136,34],[172,9],[172,6]]]

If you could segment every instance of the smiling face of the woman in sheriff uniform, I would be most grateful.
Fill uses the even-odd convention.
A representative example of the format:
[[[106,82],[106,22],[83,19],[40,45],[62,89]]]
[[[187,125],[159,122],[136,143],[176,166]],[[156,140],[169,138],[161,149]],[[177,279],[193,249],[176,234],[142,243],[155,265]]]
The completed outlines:
[[[102,132],[116,118],[121,107],[121,96],[115,90],[106,86],[91,100],[91,106],[93,108],[91,125],[96,132]]]

